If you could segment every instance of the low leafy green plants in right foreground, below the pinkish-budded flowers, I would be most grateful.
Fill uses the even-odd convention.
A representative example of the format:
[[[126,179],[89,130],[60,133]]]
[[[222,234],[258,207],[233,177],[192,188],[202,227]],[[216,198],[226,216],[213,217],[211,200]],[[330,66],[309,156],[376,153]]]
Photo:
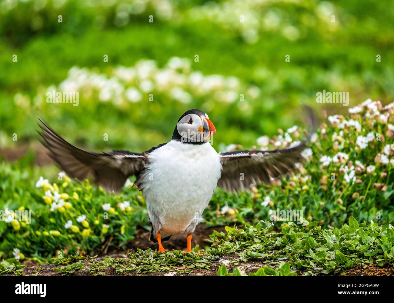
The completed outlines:
[[[211,254],[237,253],[238,263],[247,260],[288,260],[293,270],[306,275],[338,273],[357,264],[394,264],[394,231],[390,224],[352,222],[340,229],[322,229],[318,222],[305,227],[284,224],[282,232],[273,233],[271,223],[258,223],[245,229],[214,232],[208,251]],[[355,224],[357,223],[357,224]],[[264,228],[263,226],[266,225]],[[357,227],[356,227],[357,226]],[[281,266],[281,274],[288,273],[288,265]],[[224,273],[222,268],[220,273]],[[278,275],[264,268],[265,273]]]

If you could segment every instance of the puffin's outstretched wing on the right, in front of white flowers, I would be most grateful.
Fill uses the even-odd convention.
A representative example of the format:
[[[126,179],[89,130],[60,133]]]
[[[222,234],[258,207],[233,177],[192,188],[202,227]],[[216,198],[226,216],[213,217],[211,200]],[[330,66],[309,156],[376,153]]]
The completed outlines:
[[[304,160],[305,143],[274,151],[234,151],[220,154],[223,166],[217,186],[227,191],[248,190],[251,184],[269,183]]]

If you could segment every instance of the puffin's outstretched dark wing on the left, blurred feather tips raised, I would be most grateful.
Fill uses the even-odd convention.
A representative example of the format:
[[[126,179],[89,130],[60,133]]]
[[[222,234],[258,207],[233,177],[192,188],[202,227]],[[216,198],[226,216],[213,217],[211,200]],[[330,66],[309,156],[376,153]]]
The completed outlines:
[[[44,141],[41,143],[50,151],[48,156],[54,160],[70,177],[83,180],[91,174],[95,183],[102,188],[118,192],[128,177],[141,171],[148,162],[145,154],[129,151],[95,153],[79,149],[63,138],[41,119],[38,132]]]

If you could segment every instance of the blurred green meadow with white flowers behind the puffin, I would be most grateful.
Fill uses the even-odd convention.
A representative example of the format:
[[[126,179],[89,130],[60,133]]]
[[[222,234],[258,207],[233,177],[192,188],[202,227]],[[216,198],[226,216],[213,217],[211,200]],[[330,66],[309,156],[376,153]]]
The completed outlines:
[[[349,92],[350,106],[394,95],[392,1],[0,3],[2,150],[39,147],[34,110],[75,145],[140,152],[199,108],[216,126],[216,149],[249,148],[303,125],[299,105],[316,107],[323,89]],[[52,89],[78,91],[79,106],[47,103]]]

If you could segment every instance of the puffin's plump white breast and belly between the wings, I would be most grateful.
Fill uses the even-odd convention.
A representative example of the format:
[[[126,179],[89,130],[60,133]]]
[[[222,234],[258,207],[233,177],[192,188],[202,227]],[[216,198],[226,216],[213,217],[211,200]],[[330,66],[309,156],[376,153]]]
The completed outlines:
[[[164,234],[184,232],[200,219],[221,174],[219,155],[209,143],[170,141],[149,154],[142,190],[153,226]]]

